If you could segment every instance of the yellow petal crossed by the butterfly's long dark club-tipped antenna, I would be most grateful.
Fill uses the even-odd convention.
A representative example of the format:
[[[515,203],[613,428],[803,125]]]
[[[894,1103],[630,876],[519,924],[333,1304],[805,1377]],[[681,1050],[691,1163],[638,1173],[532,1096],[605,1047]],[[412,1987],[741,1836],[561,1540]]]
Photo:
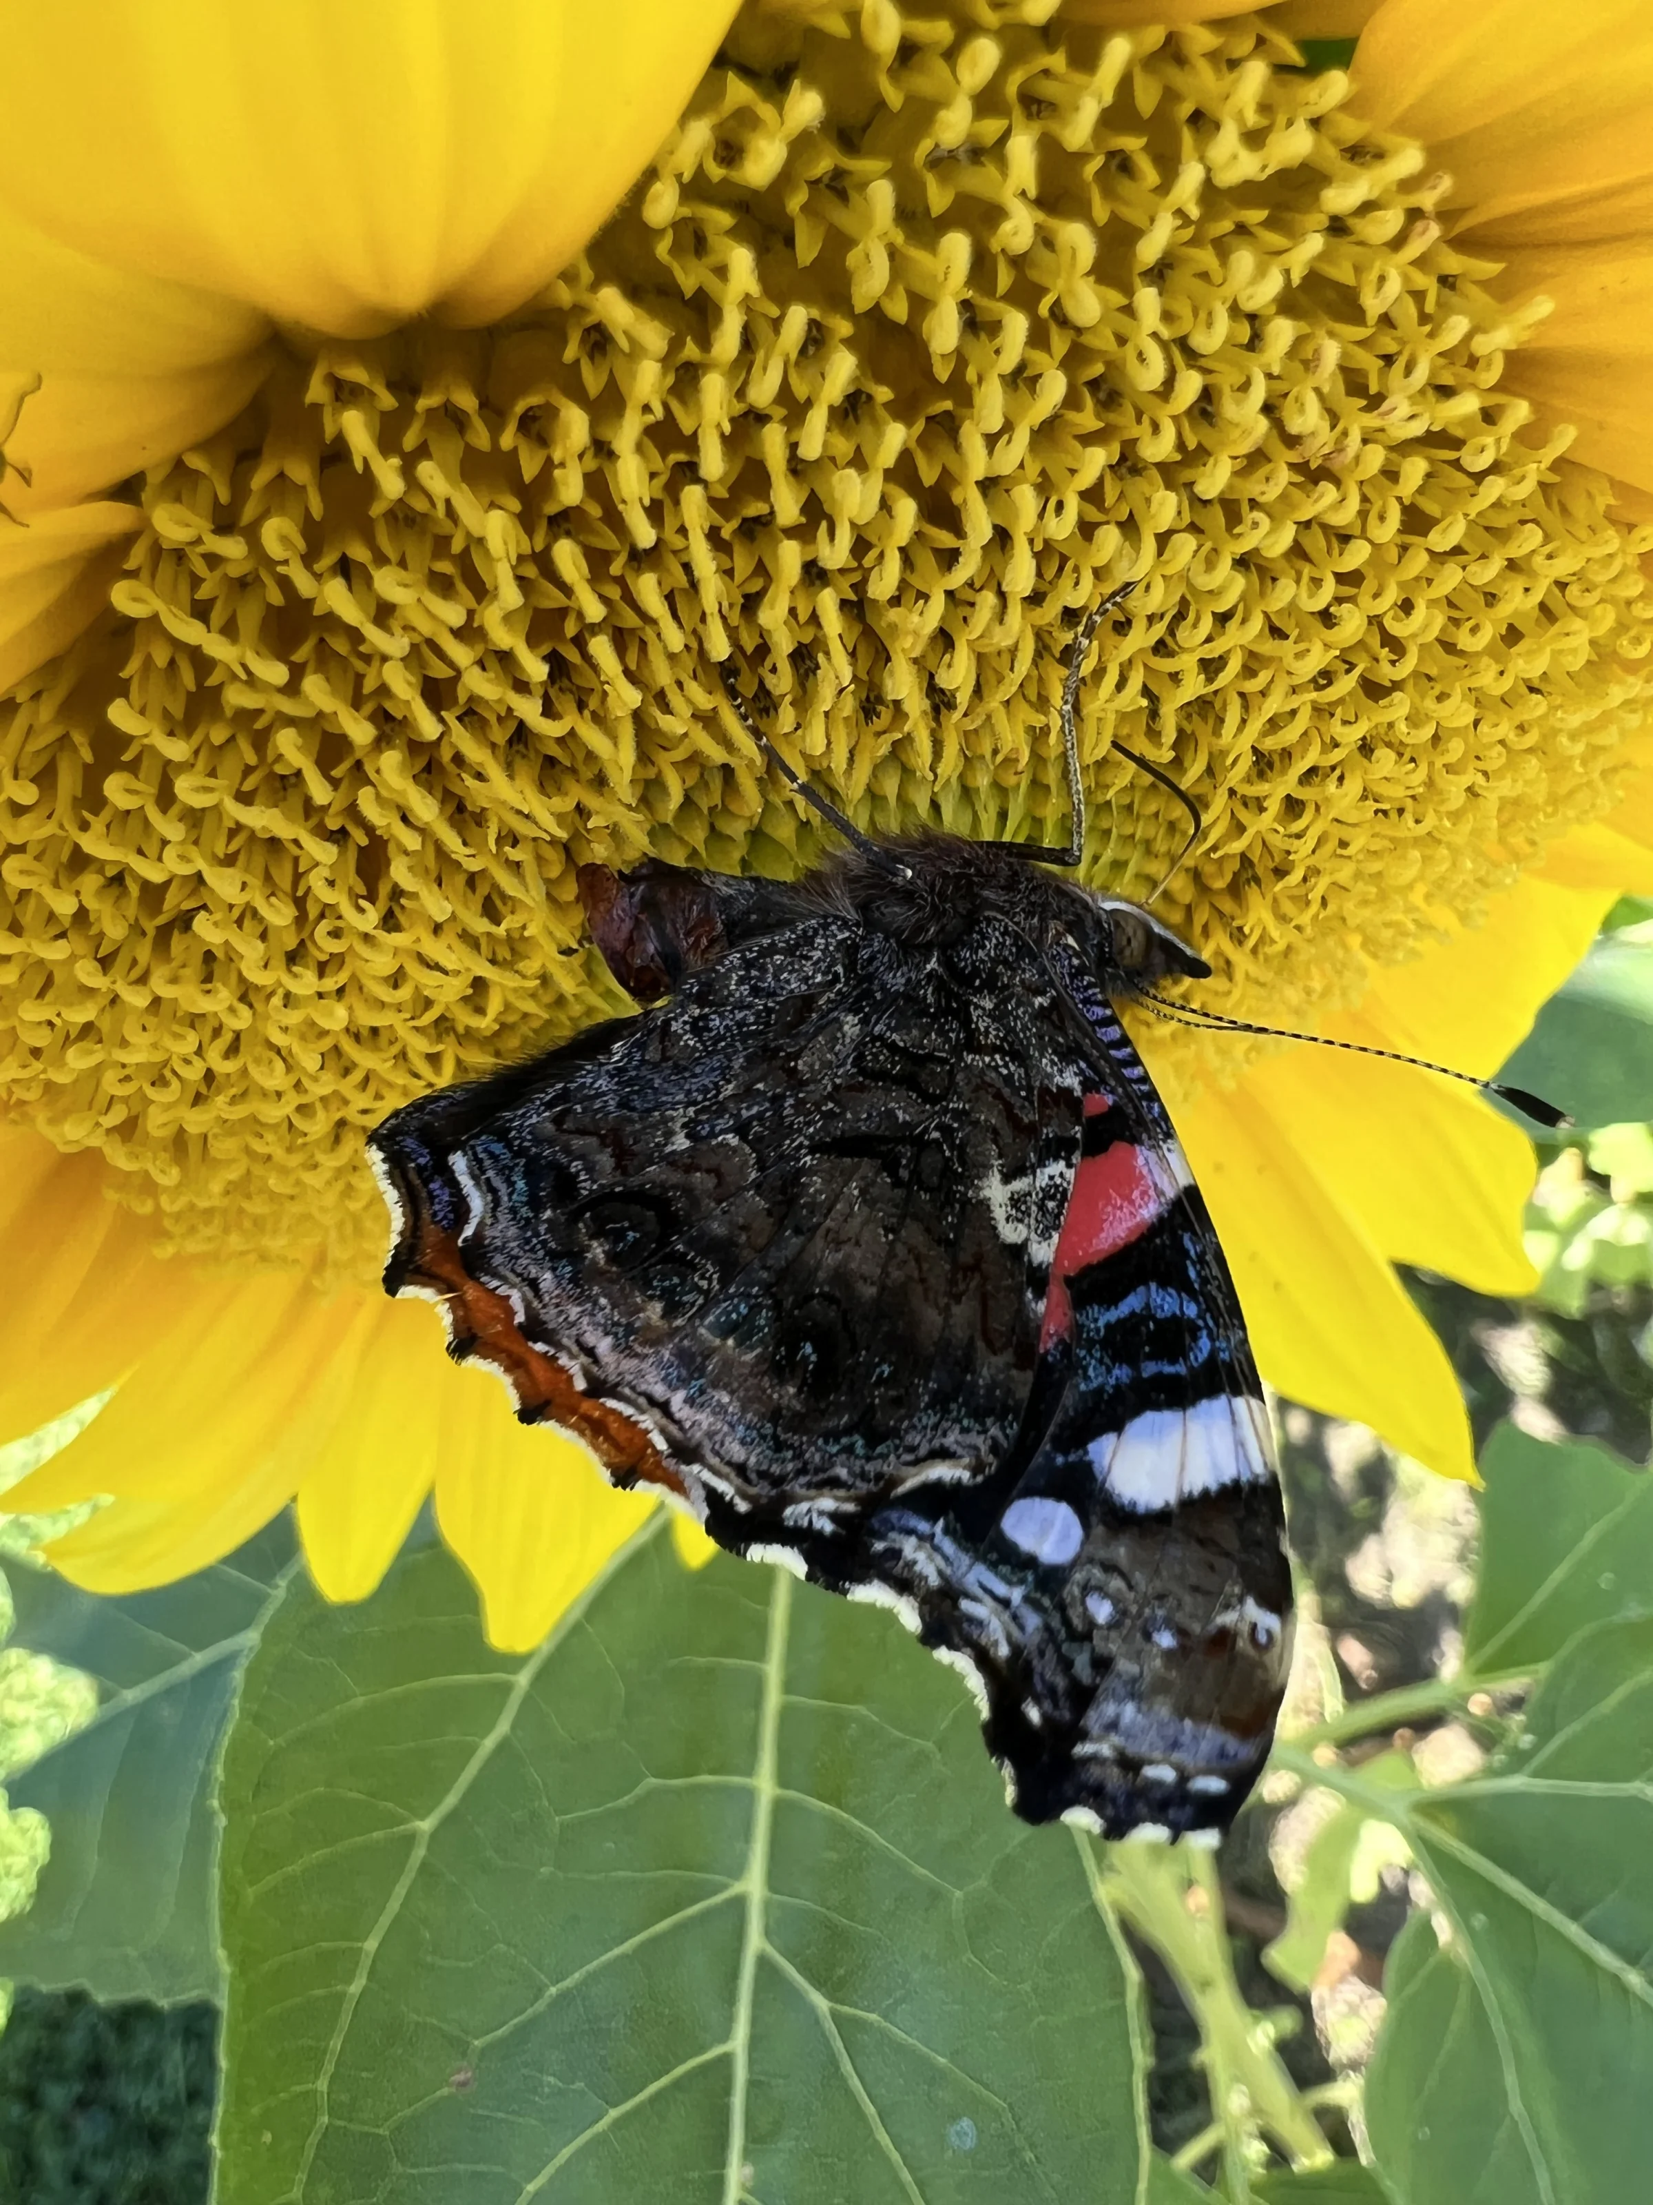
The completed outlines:
[[[1530,1294],[1521,1246],[1532,1142],[1481,1096],[1428,1072],[1292,1050],[1245,1076],[1333,1204],[1391,1263],[1461,1279],[1479,1294]]]

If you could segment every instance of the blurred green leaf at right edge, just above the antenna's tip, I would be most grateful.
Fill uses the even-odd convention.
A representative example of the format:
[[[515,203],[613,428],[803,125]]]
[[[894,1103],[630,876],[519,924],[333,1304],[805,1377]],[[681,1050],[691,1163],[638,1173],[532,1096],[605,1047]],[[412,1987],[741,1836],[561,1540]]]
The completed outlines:
[[[1582,1127],[1646,1118],[1653,1096],[1653,939],[1646,926],[1600,939],[1549,997],[1499,1072]]]

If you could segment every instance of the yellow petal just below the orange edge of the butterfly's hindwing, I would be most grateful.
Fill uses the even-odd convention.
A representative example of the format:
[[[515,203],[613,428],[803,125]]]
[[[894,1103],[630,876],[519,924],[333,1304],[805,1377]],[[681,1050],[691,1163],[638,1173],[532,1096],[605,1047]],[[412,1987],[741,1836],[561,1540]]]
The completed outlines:
[[[655,1506],[615,1493],[577,1440],[525,1427],[485,1372],[432,1358],[423,1396],[441,1427],[436,1521],[476,1579],[489,1643],[538,1645]]]

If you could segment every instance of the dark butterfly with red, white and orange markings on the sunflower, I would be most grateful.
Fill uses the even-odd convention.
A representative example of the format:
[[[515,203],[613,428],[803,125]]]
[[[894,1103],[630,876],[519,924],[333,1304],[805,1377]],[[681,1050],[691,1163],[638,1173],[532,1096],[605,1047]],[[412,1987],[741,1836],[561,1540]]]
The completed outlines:
[[[1029,1821],[1223,1830],[1285,1691],[1270,1420],[1120,1003],[1195,955],[1073,838],[580,869],[641,1014],[395,1111],[392,1294],[732,1555],[893,1605]],[[738,703],[738,695],[732,699]]]

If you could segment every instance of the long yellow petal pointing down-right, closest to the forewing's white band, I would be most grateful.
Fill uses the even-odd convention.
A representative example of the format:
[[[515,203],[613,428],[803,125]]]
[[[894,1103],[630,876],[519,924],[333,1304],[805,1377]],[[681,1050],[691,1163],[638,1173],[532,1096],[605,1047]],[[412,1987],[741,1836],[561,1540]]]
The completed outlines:
[[[1247,1078],[1177,1111],[1263,1376],[1446,1477],[1474,1477],[1452,1365],[1364,1224]]]

